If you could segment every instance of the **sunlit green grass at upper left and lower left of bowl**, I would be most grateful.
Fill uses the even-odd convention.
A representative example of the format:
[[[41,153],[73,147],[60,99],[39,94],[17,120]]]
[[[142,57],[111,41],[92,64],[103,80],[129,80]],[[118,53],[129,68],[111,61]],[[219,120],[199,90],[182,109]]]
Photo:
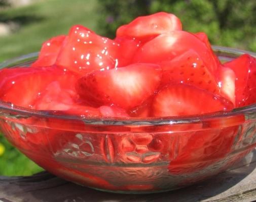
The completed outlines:
[[[94,0],[48,0],[1,11],[0,21],[2,17],[4,20],[23,22],[15,33],[0,37],[0,62],[40,51],[42,42],[59,34],[67,34],[74,24],[82,24],[98,32],[97,16],[97,2]],[[0,143],[0,175],[31,175],[42,170],[1,134]],[[4,153],[1,152],[3,148]]]

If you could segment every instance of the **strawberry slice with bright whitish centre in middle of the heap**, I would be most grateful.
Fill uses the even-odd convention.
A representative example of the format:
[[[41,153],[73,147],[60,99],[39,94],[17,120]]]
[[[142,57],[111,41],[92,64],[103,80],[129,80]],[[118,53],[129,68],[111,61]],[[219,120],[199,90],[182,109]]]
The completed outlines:
[[[76,89],[91,105],[116,105],[125,110],[138,106],[158,88],[162,69],[153,64],[133,64],[95,71],[78,80]]]

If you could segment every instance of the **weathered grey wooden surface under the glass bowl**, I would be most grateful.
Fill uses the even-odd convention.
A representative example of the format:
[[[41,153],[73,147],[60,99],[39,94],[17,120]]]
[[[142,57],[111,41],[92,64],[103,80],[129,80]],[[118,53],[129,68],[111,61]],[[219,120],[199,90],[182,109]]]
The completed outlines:
[[[202,183],[165,193],[116,194],[82,187],[47,172],[0,177],[0,202],[251,202],[256,201],[256,149],[230,170]]]

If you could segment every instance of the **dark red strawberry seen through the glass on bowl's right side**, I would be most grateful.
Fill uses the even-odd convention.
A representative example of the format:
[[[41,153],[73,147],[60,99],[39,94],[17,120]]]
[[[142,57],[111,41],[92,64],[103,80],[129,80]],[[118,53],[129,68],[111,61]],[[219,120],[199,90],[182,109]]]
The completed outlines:
[[[175,175],[194,173],[223,160],[231,153],[237,129],[238,126],[233,126],[174,134],[176,152],[169,172]]]

